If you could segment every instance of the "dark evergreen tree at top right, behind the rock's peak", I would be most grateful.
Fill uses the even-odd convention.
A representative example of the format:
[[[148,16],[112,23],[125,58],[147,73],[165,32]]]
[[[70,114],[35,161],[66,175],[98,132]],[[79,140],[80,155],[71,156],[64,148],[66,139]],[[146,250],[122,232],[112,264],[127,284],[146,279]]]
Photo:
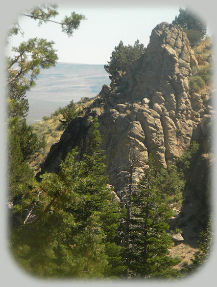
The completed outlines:
[[[206,24],[188,8],[180,8],[179,15],[175,17],[172,23],[183,28],[192,47],[197,45],[206,35]]]

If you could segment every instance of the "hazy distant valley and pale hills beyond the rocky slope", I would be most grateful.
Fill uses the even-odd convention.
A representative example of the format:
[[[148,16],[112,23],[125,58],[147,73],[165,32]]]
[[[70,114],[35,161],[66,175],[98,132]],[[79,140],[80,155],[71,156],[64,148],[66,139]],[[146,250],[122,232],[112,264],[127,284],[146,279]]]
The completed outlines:
[[[41,121],[43,116],[50,116],[71,100],[94,97],[106,83],[110,83],[110,79],[103,64],[59,62],[53,68],[41,70],[36,86],[27,93],[30,106],[27,123]]]

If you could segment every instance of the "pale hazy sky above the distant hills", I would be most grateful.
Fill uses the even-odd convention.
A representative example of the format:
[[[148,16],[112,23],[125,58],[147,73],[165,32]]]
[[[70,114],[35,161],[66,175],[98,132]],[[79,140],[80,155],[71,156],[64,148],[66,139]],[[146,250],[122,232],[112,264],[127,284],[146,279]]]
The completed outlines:
[[[19,24],[25,32],[25,38],[13,36],[11,46],[17,46],[20,41],[31,37],[42,37],[53,40],[58,50],[60,62],[105,64],[110,60],[111,52],[123,40],[124,45],[133,45],[139,39],[147,46],[151,31],[162,21],[172,23],[179,14],[179,6],[118,6],[114,7],[87,7],[59,5],[60,20],[71,12],[85,15],[80,28],[68,37],[61,32],[61,27],[47,23],[40,27],[37,22],[28,17],[19,17]]]

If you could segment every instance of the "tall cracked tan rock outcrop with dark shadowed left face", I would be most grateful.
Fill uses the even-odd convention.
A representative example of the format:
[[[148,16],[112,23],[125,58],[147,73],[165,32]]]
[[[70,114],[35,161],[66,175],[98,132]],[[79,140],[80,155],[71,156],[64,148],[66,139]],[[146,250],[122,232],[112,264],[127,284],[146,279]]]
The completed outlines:
[[[130,169],[132,181],[139,180],[149,152],[158,169],[166,168],[187,149],[195,130],[200,137],[200,123],[204,130],[210,120],[209,91],[203,97],[189,94],[188,78],[197,65],[182,29],[157,25],[146,54],[126,73],[118,72],[110,86],[103,86],[100,98],[70,123],[51,149],[42,172],[58,171],[60,161],[75,146],[85,151],[88,127],[95,116],[106,153],[106,174],[119,197],[126,194]]]

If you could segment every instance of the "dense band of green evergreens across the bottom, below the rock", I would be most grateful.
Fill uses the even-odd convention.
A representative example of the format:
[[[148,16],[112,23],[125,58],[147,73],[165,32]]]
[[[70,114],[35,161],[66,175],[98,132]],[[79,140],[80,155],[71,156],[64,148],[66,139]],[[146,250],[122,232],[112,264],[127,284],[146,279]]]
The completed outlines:
[[[46,278],[180,277],[173,268],[180,260],[168,254],[172,242],[168,223],[174,215],[170,203],[180,203],[183,172],[198,145],[183,154],[178,167],[157,172],[150,159],[130,198],[131,216],[125,215],[129,220],[126,247],[117,238],[124,213],[103,175],[98,126],[94,119],[82,161],[76,161],[74,149],[61,162],[58,174],[44,173],[41,183],[32,180],[29,186],[19,186],[21,196],[13,206],[18,224],[12,226],[10,241],[16,260],[29,273]],[[200,245],[202,252],[194,264],[204,258],[205,245]]]

